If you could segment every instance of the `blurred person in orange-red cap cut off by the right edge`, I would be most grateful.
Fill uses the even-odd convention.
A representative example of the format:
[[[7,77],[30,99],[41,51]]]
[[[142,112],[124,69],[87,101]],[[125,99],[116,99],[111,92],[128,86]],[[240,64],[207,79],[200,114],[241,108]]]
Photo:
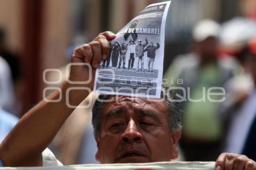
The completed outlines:
[[[255,41],[255,40],[254,40]],[[249,71],[254,82],[251,93],[242,101],[231,118],[231,124],[227,134],[225,151],[246,154],[256,160],[256,43],[250,44],[246,54]]]

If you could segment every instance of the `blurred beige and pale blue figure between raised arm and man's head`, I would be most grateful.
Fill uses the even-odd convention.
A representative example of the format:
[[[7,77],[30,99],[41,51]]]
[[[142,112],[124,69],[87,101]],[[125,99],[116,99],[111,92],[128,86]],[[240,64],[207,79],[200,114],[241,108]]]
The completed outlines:
[[[92,128],[92,105],[98,94],[91,93],[76,108],[55,136],[50,150],[63,165],[98,164],[95,159],[97,144]]]

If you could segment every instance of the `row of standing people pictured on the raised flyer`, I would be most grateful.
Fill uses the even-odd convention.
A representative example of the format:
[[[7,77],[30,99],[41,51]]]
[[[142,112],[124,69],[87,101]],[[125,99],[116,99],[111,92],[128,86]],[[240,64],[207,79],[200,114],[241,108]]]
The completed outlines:
[[[144,70],[144,53],[147,52],[147,71],[153,72],[153,65],[155,61],[156,50],[160,47],[158,43],[154,45],[154,42],[150,42],[148,45],[148,39],[145,38],[145,43],[142,44],[141,39],[136,40],[130,39],[127,43],[124,39],[121,42],[115,41],[114,43],[109,42],[110,53],[109,57],[103,61],[102,68],[109,68],[110,61],[112,69],[127,69],[134,71],[145,71]],[[147,46],[148,45],[148,46]],[[147,46],[147,47],[146,47]],[[128,67],[126,68],[126,57],[128,59]],[[119,58],[119,62],[118,62]],[[135,68],[134,68],[134,62]],[[140,65],[140,67],[139,67]],[[121,67],[122,66],[122,67]]]

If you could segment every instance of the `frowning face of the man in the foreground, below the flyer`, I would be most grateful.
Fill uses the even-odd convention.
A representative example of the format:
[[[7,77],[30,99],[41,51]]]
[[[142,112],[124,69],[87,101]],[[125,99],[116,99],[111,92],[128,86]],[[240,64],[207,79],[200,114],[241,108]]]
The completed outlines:
[[[101,163],[143,163],[176,159],[181,131],[171,132],[161,99],[116,96],[101,114],[96,159]]]

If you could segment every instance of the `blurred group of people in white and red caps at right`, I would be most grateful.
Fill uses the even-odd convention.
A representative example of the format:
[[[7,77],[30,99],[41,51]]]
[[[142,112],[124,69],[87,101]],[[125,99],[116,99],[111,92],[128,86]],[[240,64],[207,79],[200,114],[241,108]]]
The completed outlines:
[[[180,103],[186,161],[212,161],[223,151],[256,159],[255,35],[256,22],[247,18],[222,25],[201,20],[191,52],[177,56],[165,72],[168,87],[186,90],[176,90],[186,96]]]

